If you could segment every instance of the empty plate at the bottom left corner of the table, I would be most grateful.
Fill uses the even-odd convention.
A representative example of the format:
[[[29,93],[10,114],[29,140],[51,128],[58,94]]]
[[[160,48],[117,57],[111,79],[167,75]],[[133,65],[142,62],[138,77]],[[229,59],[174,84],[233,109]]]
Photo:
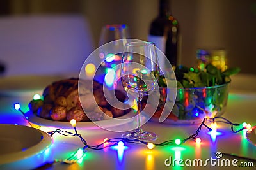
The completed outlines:
[[[51,137],[23,125],[0,124],[0,169],[33,169],[51,154]]]

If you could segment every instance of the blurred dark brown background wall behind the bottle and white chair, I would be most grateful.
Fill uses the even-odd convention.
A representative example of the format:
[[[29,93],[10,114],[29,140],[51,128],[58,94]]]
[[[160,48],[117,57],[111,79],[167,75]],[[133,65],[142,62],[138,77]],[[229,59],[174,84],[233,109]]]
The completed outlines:
[[[180,24],[182,64],[195,66],[197,48],[224,48],[230,67],[256,74],[256,1],[172,0],[170,8]],[[0,17],[81,14],[90,23],[95,47],[104,24],[127,24],[131,38],[147,41],[150,22],[157,12],[157,0],[0,1]]]

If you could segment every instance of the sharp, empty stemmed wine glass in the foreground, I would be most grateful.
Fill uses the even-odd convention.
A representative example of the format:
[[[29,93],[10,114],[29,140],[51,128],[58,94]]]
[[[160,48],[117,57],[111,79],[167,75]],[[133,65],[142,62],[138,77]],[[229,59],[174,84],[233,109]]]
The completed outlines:
[[[153,132],[141,128],[141,100],[158,87],[159,67],[156,46],[154,43],[137,41],[126,43],[122,55],[121,80],[124,90],[136,94],[137,128],[134,132],[123,134],[125,138],[136,138],[143,141],[157,139]]]

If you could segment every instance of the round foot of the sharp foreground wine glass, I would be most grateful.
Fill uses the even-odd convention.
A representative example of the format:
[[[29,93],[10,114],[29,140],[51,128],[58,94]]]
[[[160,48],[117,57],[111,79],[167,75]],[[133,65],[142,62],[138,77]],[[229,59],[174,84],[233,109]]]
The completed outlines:
[[[122,134],[123,138],[128,138],[128,139],[138,139],[141,141],[154,141],[157,139],[157,135],[154,134],[153,132],[147,132],[147,131],[142,131],[142,132],[127,132],[125,134]]]

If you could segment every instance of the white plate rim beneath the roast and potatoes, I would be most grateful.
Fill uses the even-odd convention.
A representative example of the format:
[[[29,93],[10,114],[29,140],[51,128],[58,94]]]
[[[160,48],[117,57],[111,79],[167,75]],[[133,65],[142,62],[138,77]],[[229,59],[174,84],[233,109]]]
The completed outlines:
[[[126,121],[122,121],[122,123],[118,124],[116,123],[115,118],[108,119],[108,120],[101,120],[97,121],[97,124],[95,125],[93,122],[77,122],[76,127],[77,129],[100,129],[101,127],[115,127],[122,124],[127,124],[132,121],[132,117],[136,116],[132,111],[129,113],[123,115],[122,117],[118,117],[118,119],[127,119]],[[26,113],[26,117],[28,117],[29,122],[41,125],[41,126],[47,126],[47,127],[58,127],[60,129],[73,129],[72,125],[70,125],[70,122],[61,122],[61,121],[54,121],[54,120],[48,120],[45,118],[40,118],[31,111],[28,111]],[[115,123],[114,123],[115,122]]]

